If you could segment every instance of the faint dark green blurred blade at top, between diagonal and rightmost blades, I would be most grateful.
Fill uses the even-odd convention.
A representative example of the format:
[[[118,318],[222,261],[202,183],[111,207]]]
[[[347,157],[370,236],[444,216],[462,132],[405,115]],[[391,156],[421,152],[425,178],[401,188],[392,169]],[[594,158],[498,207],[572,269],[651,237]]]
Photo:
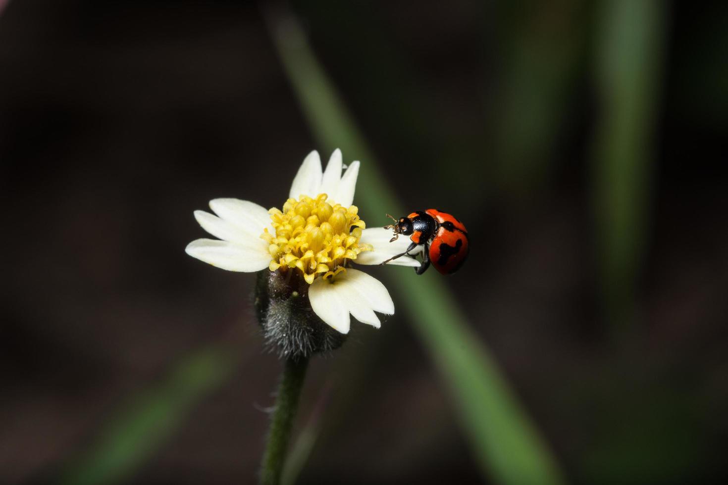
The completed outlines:
[[[587,44],[582,18],[588,8],[579,0],[505,1],[486,15],[488,23],[498,15],[486,50],[502,59],[491,94],[496,105],[487,110],[502,197],[532,197],[561,164],[554,157],[565,134],[577,131],[573,92]]]

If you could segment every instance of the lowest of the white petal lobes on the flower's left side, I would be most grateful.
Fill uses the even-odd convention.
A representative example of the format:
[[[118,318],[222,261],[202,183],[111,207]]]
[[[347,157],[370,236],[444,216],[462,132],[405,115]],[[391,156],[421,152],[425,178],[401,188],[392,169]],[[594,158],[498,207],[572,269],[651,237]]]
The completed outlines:
[[[214,239],[197,239],[187,244],[185,252],[191,257],[207,262],[217,268],[229,271],[252,273],[268,268],[271,262],[268,245],[261,239],[260,244],[237,244]]]

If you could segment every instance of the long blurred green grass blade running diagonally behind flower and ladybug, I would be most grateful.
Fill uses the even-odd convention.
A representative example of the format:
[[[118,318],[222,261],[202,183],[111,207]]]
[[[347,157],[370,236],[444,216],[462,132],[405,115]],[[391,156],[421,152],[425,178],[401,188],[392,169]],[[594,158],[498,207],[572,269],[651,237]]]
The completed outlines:
[[[268,15],[285,71],[314,134],[328,150],[339,147],[365,161],[357,203],[370,215],[405,213],[387,177],[349,118],[331,82],[318,65],[300,26],[290,16]],[[382,116],[386,116],[383,113]],[[443,280],[430,273],[389,271],[397,306],[411,316],[415,330],[453,396],[462,429],[483,473],[499,484],[563,483],[550,450],[518,404],[499,369],[473,334]],[[437,275],[439,276],[439,275]],[[416,292],[411,291],[417,288]],[[406,297],[404,297],[406,295]]]

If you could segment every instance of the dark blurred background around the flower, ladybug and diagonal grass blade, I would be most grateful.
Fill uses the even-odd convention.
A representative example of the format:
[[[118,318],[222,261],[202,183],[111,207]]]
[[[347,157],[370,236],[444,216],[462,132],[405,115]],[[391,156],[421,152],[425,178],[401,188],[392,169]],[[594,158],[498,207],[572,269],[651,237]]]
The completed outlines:
[[[400,201],[470,228],[470,261],[448,286],[569,481],[717,482],[728,478],[727,9],[656,2],[654,65],[628,102],[648,104],[640,155],[617,166],[625,185],[605,185],[602,167],[622,160],[609,130],[624,126],[609,121],[620,102],[602,58],[611,4],[288,8],[388,177],[412,181],[397,184]],[[203,237],[192,211],[209,199],[280,207],[314,148],[258,4],[9,1],[1,483],[55,481],[127,404],[215,345],[235,349],[232,369],[122,481],[255,481],[280,364],[261,350],[253,277],[183,249]],[[625,201],[616,225],[610,187]],[[376,332],[353,324],[347,345],[314,360],[303,399],[299,426],[312,414],[323,425],[301,484],[483,480],[406,315]]]

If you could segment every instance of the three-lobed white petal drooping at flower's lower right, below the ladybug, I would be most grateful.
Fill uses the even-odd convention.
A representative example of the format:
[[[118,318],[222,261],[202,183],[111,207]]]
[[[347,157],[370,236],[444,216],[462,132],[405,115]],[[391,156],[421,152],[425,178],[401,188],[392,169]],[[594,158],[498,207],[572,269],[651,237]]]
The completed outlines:
[[[347,269],[333,281],[317,278],[309,287],[311,308],[325,323],[341,333],[349,332],[349,313],[362,323],[379,328],[375,311],[391,315],[395,303],[387,288],[360,270]]]

